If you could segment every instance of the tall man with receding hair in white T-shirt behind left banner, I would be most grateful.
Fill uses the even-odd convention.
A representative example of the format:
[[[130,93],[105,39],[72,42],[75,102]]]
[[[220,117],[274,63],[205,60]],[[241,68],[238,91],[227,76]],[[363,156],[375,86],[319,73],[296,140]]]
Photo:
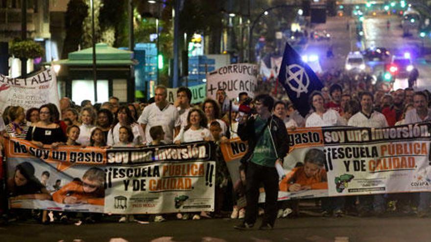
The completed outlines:
[[[141,124],[145,132],[144,141],[147,144],[152,141],[149,132],[153,126],[160,125],[163,127],[163,131],[165,132],[163,142],[165,144],[171,144],[173,138],[180,131],[181,122],[178,116],[178,110],[166,100],[167,93],[165,86],[157,86],[154,91],[155,102],[145,107],[138,119],[138,123]]]

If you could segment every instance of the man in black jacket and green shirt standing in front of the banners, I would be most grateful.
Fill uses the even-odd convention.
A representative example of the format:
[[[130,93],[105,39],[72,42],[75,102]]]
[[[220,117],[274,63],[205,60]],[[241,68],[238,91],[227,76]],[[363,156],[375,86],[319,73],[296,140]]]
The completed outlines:
[[[239,120],[238,135],[248,141],[248,151],[241,163],[246,165],[246,200],[244,221],[234,228],[247,230],[253,227],[258,213],[259,187],[265,189],[265,214],[260,229],[270,230],[277,218],[279,174],[276,166],[283,162],[289,145],[283,120],[271,115],[274,99],[268,94],[256,97],[257,115],[244,115]]]

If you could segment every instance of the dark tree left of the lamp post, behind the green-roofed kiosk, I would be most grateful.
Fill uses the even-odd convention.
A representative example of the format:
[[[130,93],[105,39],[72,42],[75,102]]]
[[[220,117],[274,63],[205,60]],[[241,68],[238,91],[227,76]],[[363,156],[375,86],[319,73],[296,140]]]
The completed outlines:
[[[82,25],[88,15],[88,6],[84,0],[71,0],[66,11],[66,38],[64,40],[62,59],[67,59],[70,52],[78,50],[83,34]]]

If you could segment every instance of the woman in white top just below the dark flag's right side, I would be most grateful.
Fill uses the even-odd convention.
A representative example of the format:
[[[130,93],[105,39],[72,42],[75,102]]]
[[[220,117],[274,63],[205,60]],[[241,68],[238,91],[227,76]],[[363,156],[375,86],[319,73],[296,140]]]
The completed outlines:
[[[310,106],[314,110],[305,121],[305,127],[342,126],[346,121],[333,109],[325,109],[325,102],[320,91],[310,95]]]

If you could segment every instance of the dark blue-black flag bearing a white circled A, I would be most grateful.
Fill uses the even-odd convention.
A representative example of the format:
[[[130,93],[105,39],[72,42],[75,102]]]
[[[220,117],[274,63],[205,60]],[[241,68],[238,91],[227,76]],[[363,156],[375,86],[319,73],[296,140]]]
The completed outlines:
[[[278,81],[286,89],[295,108],[304,117],[311,108],[308,103],[309,95],[312,91],[320,91],[323,88],[323,84],[316,73],[302,61],[301,56],[287,43]]]

